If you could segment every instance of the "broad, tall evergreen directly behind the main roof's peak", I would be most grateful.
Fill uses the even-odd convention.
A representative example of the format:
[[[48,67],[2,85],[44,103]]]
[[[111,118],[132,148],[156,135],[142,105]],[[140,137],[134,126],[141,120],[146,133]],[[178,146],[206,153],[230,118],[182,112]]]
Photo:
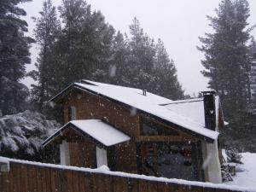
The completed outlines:
[[[63,0],[60,11],[64,27],[55,44],[54,93],[79,79],[108,79],[113,27],[84,0]]]

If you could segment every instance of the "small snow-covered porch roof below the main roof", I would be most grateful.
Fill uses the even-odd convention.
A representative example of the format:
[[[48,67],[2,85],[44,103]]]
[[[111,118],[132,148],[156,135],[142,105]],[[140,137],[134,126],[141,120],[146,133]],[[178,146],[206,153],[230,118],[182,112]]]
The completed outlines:
[[[96,139],[99,143],[104,146],[112,146],[118,143],[127,142],[131,137],[125,135],[125,133],[118,131],[113,126],[108,125],[100,119],[86,119],[86,120],[72,120],[60,130],[56,131],[51,137],[44,141],[44,145],[50,143],[55,137],[61,134],[67,127],[79,129],[84,134]]]

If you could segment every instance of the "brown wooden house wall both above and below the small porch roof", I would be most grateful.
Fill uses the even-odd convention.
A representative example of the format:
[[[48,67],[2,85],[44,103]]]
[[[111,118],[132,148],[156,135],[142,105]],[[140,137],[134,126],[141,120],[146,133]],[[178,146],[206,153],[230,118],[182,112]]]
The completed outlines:
[[[65,97],[63,104],[65,123],[68,122],[68,108],[73,106],[76,108],[76,119],[104,119],[129,136],[139,137],[139,115],[131,115],[129,108],[124,108],[106,98],[73,90],[69,96]],[[89,148],[87,148],[88,146]],[[69,148],[71,166],[96,167],[96,143],[84,140],[79,143],[70,143]],[[108,166],[111,170],[137,172],[136,143],[134,140],[107,148],[107,151]]]

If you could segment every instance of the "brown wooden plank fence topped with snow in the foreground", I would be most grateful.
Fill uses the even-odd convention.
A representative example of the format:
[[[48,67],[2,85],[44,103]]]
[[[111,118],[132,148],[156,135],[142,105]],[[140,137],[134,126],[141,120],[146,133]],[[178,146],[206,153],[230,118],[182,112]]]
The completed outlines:
[[[108,172],[81,171],[73,167],[50,166],[28,161],[0,160],[0,192],[230,192],[244,189],[221,189],[222,185],[154,181],[134,177],[132,174],[119,175]],[[88,169],[89,170],[89,169]],[[133,177],[132,177],[133,176]],[[166,179],[167,180],[167,179]],[[172,181],[172,179],[170,179]],[[178,181],[178,180],[177,180]],[[196,186],[197,185],[197,186]],[[204,185],[204,186],[203,186]],[[208,185],[211,185],[208,183]],[[247,190],[249,191],[249,190]]]

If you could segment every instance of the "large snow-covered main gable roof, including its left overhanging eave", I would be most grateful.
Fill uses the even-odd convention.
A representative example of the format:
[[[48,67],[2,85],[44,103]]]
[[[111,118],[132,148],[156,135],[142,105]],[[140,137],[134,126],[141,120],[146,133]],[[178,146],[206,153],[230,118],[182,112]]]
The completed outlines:
[[[82,80],[80,83],[71,84],[50,101],[59,100],[70,88],[76,88],[108,98],[125,104],[129,108],[137,108],[141,113],[146,113],[166,123],[177,125],[182,131],[192,133],[192,135],[195,133],[197,136],[208,141],[213,142],[218,138],[218,131],[212,131],[205,127],[204,110],[201,108],[201,106],[203,107],[202,99],[172,101],[150,92],[143,96],[143,90],[135,88]]]

